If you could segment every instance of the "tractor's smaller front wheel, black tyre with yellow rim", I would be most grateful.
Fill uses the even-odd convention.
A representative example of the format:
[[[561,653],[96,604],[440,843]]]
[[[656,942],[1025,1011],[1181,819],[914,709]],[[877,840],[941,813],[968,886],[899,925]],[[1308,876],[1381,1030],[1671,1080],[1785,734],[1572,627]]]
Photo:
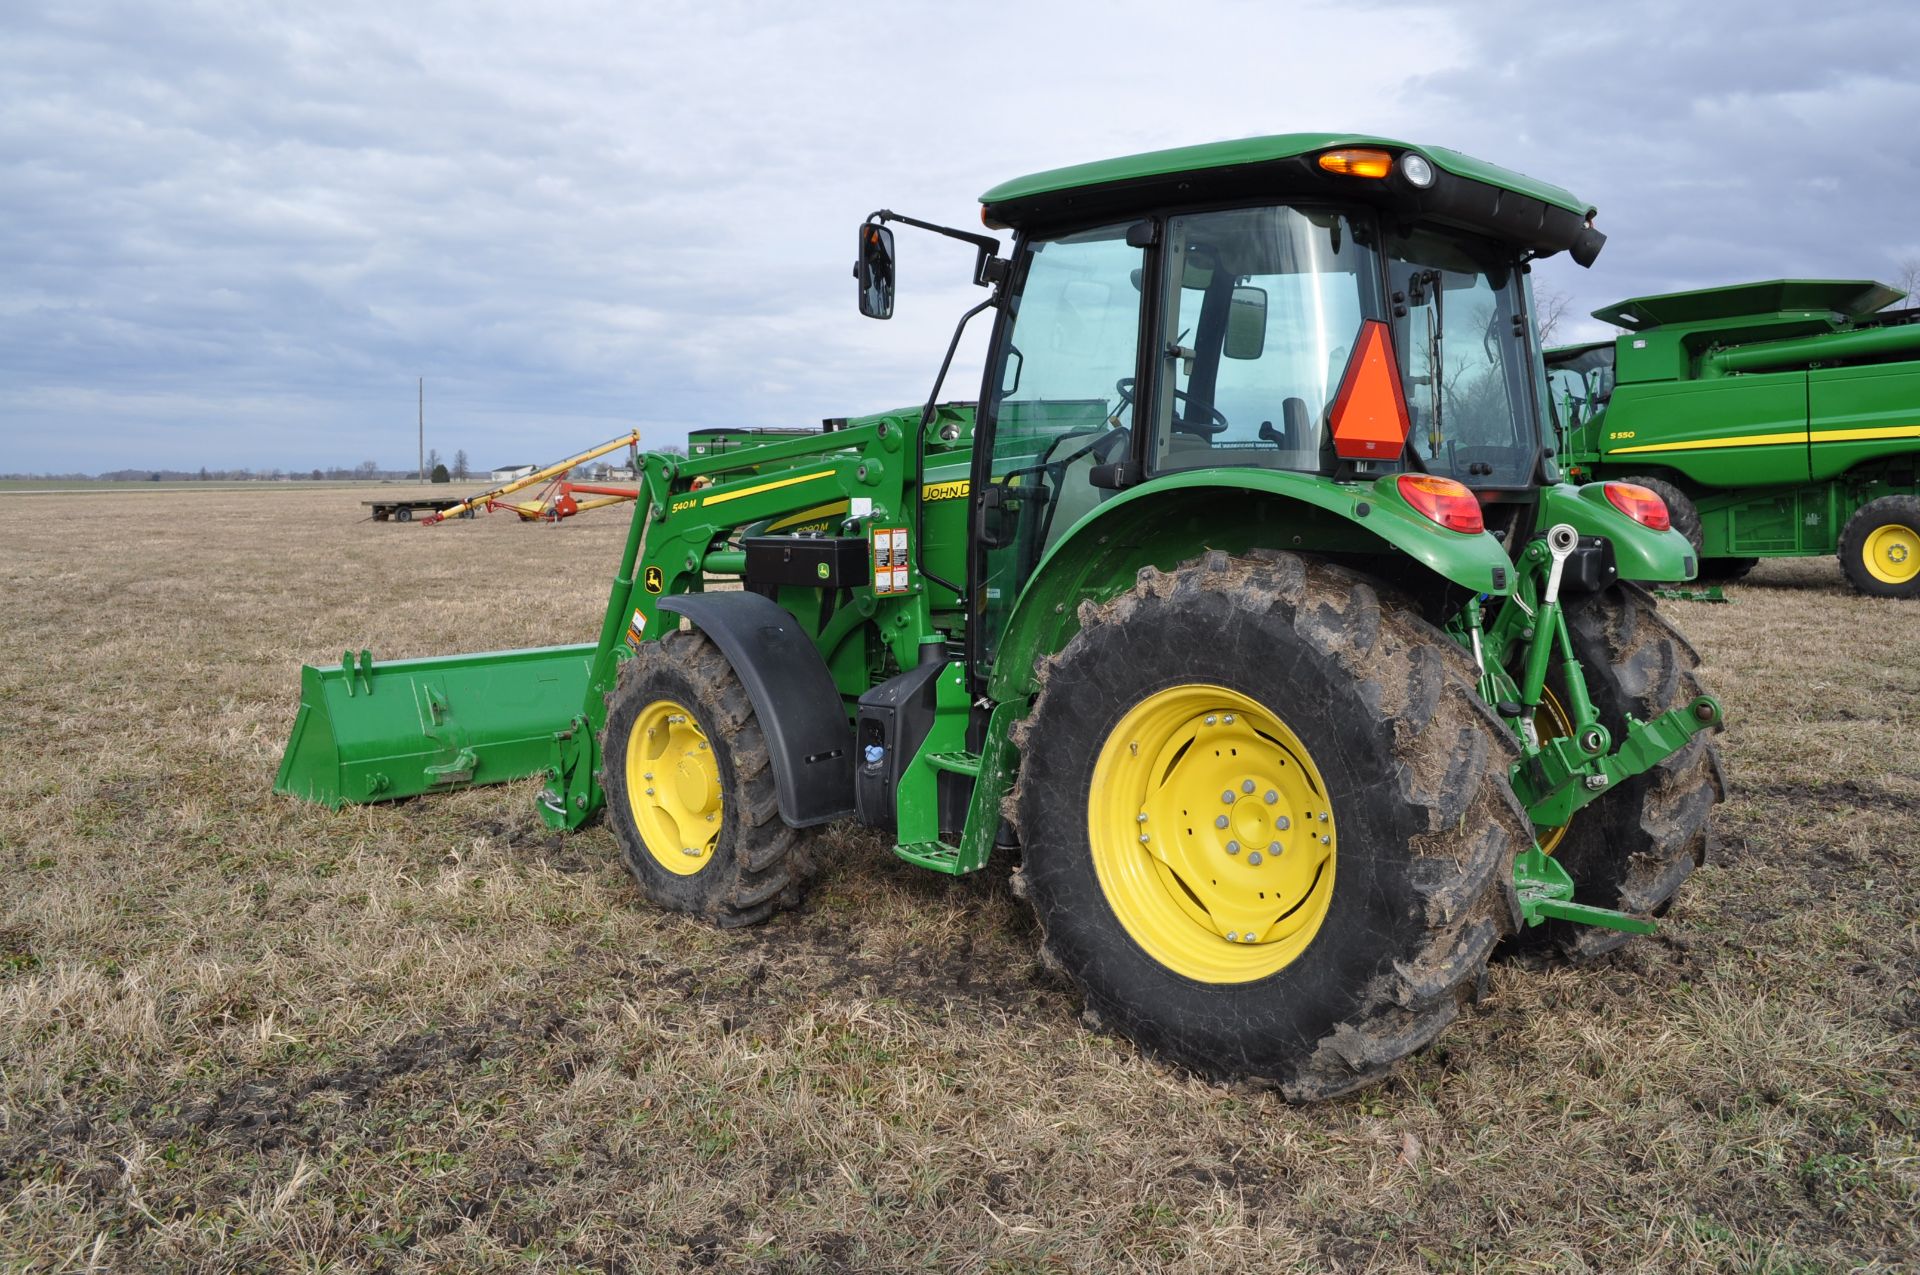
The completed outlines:
[[[705,634],[666,634],[620,666],[601,757],[607,820],[647,899],[718,926],[799,902],[812,837],[781,822],[747,687]]]

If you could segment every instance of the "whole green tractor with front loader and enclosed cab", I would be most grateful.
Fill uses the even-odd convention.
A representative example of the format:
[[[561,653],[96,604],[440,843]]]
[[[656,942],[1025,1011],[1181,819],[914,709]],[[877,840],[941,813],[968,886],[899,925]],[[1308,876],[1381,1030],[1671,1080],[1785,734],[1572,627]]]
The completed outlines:
[[[1528,263],[1565,190],[1292,134],[983,196],[1012,248],[925,405],[649,453],[599,638],[305,668],[276,787],[540,776],[639,889],[799,902],[837,820],[995,854],[1043,958],[1152,1054],[1296,1100],[1382,1077],[1503,939],[1584,956],[1701,862],[1720,707],[1644,586],[1657,497],[1559,482]],[[977,403],[941,382],[991,315]]]

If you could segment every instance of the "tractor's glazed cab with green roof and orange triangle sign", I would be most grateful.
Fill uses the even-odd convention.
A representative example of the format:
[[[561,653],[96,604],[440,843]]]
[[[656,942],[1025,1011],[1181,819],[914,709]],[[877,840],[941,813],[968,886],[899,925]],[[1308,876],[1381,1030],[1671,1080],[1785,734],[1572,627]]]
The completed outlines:
[[[1288,134],[981,200],[1016,232],[975,426],[983,659],[1039,563],[1139,488],[1427,474],[1526,505],[1559,476],[1528,263],[1605,242],[1565,190],[1440,148]]]

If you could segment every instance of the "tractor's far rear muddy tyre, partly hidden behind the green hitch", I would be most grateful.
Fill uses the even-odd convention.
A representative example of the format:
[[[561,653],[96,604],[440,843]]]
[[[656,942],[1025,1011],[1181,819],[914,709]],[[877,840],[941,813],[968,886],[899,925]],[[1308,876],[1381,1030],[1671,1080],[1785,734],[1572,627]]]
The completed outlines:
[[[1699,655],[1655,609],[1645,589],[1617,584],[1567,599],[1567,632],[1586,689],[1615,745],[1626,714],[1642,722],[1699,695]],[[1559,676],[1555,674],[1555,687]],[[1574,901],[1636,916],[1663,916],[1680,883],[1707,862],[1707,820],[1726,795],[1720,757],[1707,735],[1584,806],[1557,835],[1542,837],[1574,879]],[[1523,947],[1588,960],[1626,943],[1619,929],[1549,920]]]

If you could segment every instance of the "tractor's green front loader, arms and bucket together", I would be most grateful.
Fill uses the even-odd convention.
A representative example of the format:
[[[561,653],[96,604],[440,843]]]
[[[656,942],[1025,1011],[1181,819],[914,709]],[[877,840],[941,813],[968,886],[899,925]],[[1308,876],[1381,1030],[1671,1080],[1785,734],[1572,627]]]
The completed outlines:
[[[340,806],[540,776],[541,818],[578,828],[605,801],[597,735],[618,664],[678,626],[662,601],[739,588],[743,541],[756,534],[858,538],[862,553],[887,534],[891,553],[891,534],[906,532],[920,499],[908,445],[920,424],[914,407],[695,459],[647,453],[593,641],[390,662],[357,651],[340,664],[305,666],[275,791]],[[925,428],[929,472],[964,478],[972,411],[941,407]],[[935,611],[960,607],[920,578],[912,557],[900,555],[899,566],[889,557],[883,584],[760,586],[801,624],[849,714],[879,670],[912,666],[922,643],[943,639]]]

